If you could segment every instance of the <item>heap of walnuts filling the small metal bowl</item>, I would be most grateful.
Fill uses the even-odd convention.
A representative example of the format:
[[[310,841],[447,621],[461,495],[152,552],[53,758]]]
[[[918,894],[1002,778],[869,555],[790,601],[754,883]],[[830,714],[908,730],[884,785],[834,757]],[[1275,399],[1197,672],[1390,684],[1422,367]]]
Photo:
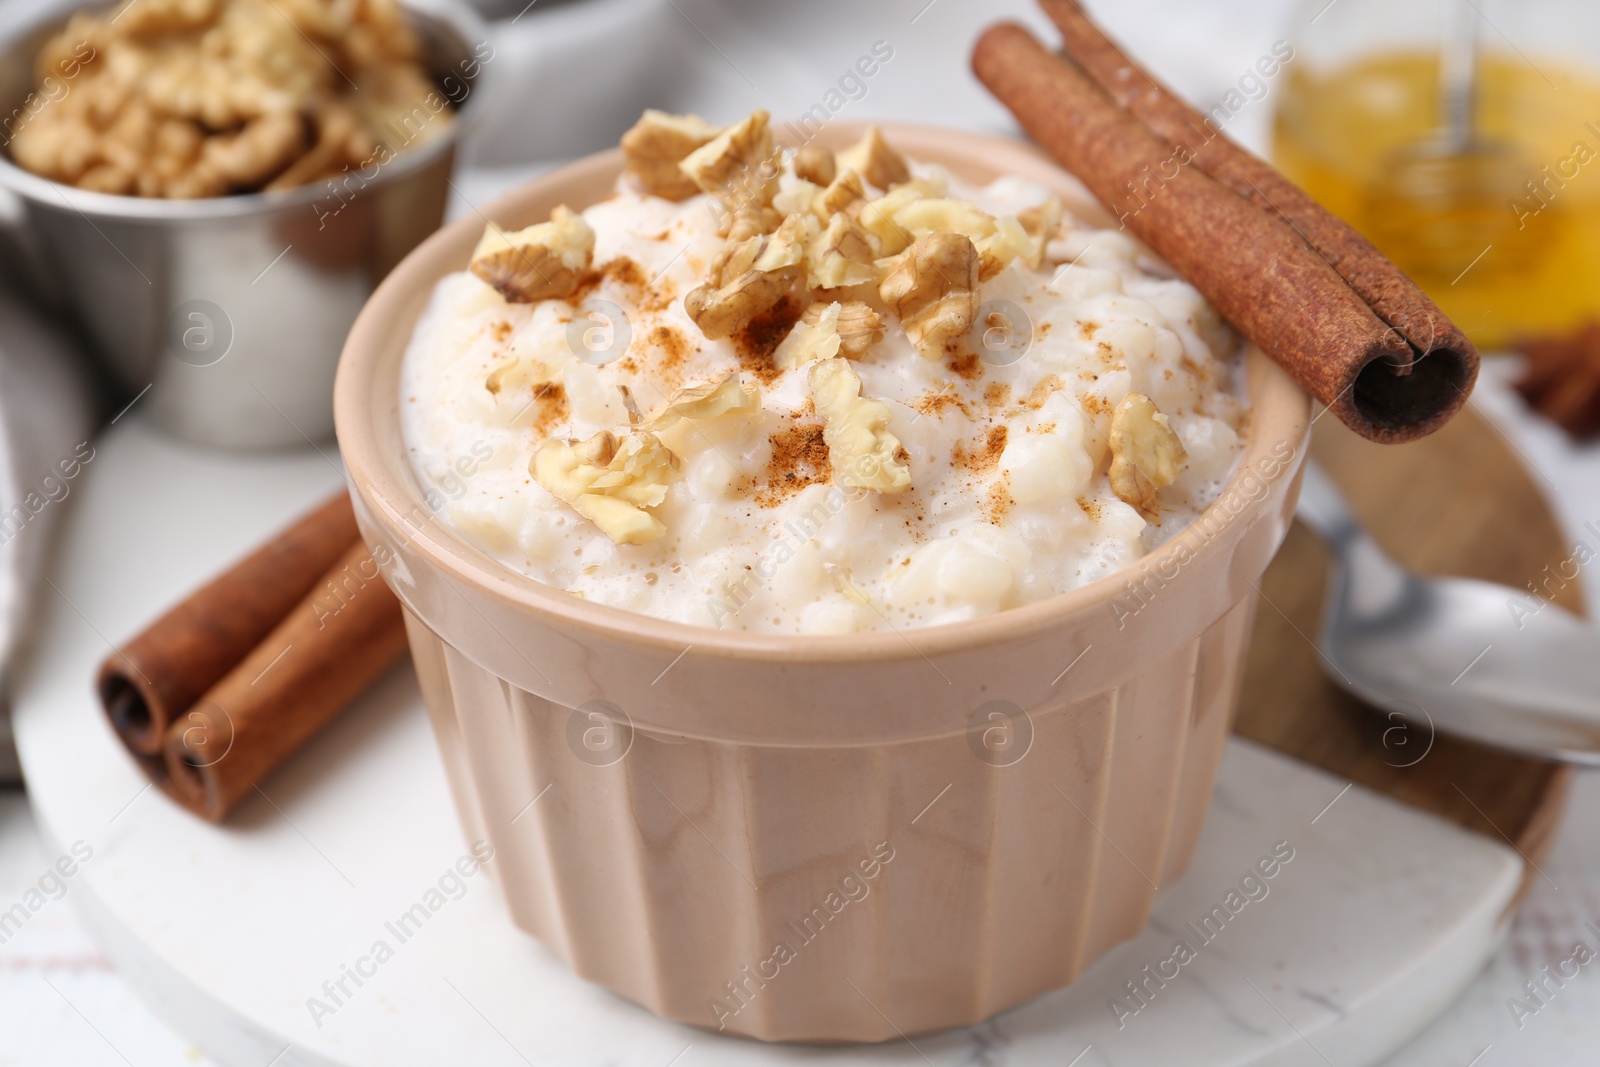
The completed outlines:
[[[394,0],[101,6],[43,42],[38,90],[6,122],[13,158],[54,181],[165,198],[283,189],[384,165],[453,122]]]

